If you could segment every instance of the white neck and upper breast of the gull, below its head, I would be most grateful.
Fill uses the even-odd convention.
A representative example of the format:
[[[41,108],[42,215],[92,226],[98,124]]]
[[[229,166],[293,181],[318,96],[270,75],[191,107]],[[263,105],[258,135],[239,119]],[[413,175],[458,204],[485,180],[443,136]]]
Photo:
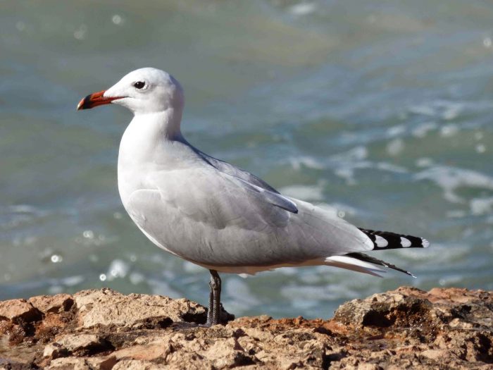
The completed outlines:
[[[118,153],[118,190],[123,204],[133,191],[149,188],[146,174],[177,165],[180,156],[176,149],[186,143],[180,131],[181,118],[180,110],[167,109],[136,114],[127,126]]]

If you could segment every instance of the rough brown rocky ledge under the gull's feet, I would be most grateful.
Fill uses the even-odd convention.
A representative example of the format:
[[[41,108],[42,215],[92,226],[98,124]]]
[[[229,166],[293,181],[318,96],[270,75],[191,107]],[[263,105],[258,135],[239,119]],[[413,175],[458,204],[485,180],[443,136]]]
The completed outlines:
[[[204,328],[189,300],[85,290],[0,302],[0,369],[493,369],[493,292],[399,288],[330,320]]]

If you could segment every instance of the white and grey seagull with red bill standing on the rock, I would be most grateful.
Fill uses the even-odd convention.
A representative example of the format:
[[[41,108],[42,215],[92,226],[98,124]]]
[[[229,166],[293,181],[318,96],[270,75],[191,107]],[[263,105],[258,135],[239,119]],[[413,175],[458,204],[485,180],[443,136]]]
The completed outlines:
[[[218,272],[325,265],[373,276],[386,267],[413,276],[363,252],[430,244],[353,226],[337,211],[286,197],[261,178],[201,152],[180,129],[183,89],[163,70],[134,70],[108,90],[87,95],[77,110],[104,104],[134,114],[118,153],[118,191],[130,218],[155,245],[211,273],[204,326],[224,321]]]

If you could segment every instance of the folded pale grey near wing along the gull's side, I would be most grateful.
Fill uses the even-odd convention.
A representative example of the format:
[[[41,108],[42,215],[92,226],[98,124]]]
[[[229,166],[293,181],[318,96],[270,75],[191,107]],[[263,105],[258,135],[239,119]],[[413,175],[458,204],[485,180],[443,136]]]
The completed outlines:
[[[331,212],[214,168],[154,173],[125,208],[156,245],[208,266],[299,263],[373,247]],[[368,244],[369,243],[369,244]]]

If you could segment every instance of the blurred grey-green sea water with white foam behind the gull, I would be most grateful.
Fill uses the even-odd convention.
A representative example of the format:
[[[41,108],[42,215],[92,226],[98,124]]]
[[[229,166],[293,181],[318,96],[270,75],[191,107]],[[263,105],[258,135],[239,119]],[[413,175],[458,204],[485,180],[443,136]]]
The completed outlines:
[[[286,195],[428,238],[413,271],[223,276],[241,316],[332,316],[415,285],[493,289],[493,3],[0,0],[0,299],[108,286],[203,304],[208,272],[162,252],[116,186],[130,112],[81,97],[154,66],[182,132]]]

